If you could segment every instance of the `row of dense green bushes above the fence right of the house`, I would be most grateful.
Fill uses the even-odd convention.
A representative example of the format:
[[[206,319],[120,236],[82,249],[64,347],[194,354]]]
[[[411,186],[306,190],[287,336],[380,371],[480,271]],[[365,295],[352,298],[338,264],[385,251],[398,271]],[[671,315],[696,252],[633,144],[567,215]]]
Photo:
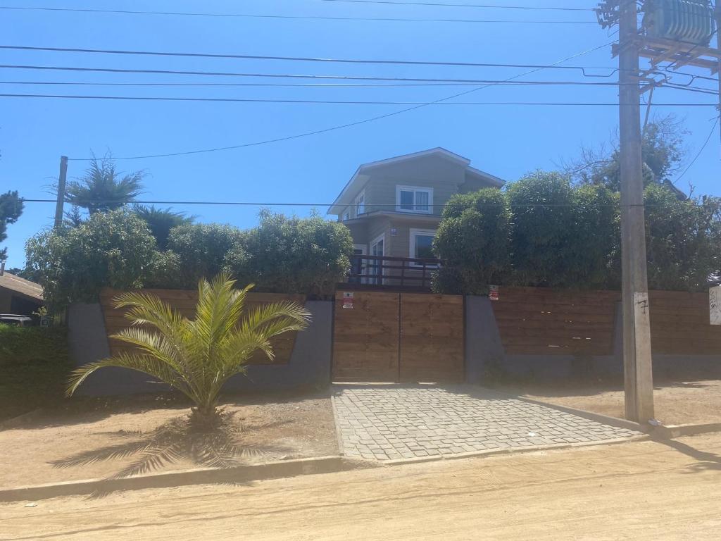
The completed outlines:
[[[721,200],[679,199],[658,183],[644,194],[649,288],[706,289],[709,278],[721,276]],[[469,294],[484,293],[488,283],[618,288],[620,237],[618,193],[536,172],[505,193],[451,198],[435,239],[448,266],[434,288]]]

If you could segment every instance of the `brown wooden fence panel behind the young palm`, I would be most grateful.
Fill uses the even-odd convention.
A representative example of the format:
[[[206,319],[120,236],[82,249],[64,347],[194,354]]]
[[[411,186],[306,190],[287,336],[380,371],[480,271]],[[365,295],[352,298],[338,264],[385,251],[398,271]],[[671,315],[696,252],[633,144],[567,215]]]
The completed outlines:
[[[164,302],[177,309],[183,316],[192,318],[195,315],[195,304],[198,302],[198,291],[186,291],[181,289],[143,289],[143,292],[158,296]],[[111,335],[118,333],[130,325],[125,317],[125,309],[117,309],[113,307],[112,299],[123,291],[115,289],[103,289],[100,292],[100,306],[105,320],[105,331],[108,335],[108,344],[110,353],[115,355],[120,351],[131,351],[133,346],[110,338]],[[248,308],[259,307],[262,304],[270,302],[293,301],[303,305],[305,297],[303,295],[286,295],[275,293],[249,293],[246,300]],[[249,361],[249,364],[287,364],[293,353],[293,346],[296,343],[296,335],[298,333],[283,333],[271,340],[275,359],[270,361],[260,352]]]

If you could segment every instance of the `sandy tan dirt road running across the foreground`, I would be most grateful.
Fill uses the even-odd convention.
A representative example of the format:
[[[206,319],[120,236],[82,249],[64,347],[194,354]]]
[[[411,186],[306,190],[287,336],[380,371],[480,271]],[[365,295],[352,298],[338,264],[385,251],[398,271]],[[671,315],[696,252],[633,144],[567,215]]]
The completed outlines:
[[[0,504],[1,540],[717,540],[721,434]]]

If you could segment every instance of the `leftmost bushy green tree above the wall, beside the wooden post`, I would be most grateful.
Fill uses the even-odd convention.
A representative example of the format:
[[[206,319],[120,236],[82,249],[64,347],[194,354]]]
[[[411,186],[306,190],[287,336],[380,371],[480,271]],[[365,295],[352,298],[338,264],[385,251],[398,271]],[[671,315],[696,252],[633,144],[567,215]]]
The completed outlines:
[[[56,307],[94,302],[105,286],[142,287],[157,254],[145,221],[125,209],[96,212],[78,227],[37,234],[25,253],[27,272],[37,276],[45,299]]]

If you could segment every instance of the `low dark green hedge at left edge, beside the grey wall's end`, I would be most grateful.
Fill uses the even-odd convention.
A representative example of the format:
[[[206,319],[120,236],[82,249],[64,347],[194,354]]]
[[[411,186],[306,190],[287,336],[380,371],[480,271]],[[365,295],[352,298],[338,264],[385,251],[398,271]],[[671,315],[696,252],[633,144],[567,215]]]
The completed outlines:
[[[66,327],[0,325],[0,420],[57,403],[69,371]]]

